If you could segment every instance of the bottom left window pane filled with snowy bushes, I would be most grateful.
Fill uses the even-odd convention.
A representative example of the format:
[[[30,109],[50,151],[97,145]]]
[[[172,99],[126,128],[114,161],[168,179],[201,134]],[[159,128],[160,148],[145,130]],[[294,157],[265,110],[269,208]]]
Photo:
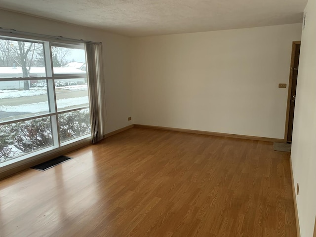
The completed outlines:
[[[0,126],[0,163],[52,145],[49,117]]]

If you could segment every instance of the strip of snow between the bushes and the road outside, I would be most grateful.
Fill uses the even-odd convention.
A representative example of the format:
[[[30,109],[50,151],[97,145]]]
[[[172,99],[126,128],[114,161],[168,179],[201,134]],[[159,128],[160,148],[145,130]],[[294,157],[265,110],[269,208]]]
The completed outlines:
[[[57,100],[57,108],[63,109],[71,106],[84,105],[89,103],[88,96],[60,99]],[[3,112],[19,112],[19,113],[40,113],[48,112],[48,102],[39,102],[32,104],[24,104],[18,106],[0,105],[0,111]]]

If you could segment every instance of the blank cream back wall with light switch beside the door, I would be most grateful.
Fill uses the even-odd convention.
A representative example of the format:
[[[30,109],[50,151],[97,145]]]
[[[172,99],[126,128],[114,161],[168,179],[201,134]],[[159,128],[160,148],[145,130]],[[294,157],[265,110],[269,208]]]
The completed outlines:
[[[132,38],[134,123],[284,138],[301,24]]]

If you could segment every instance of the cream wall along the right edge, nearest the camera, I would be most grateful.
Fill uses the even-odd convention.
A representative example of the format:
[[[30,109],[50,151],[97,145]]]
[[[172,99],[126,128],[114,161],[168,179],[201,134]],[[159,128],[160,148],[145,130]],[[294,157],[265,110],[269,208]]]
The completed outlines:
[[[302,31],[294,114],[292,167],[301,237],[312,237],[316,216],[316,0],[309,0]]]

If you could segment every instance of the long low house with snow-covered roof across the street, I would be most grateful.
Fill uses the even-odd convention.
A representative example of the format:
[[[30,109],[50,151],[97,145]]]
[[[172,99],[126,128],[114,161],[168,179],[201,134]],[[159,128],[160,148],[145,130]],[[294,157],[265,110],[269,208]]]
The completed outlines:
[[[83,63],[81,63],[82,67]],[[84,63],[85,65],[85,63]],[[85,71],[77,69],[76,67],[60,67],[54,68],[54,74],[82,74]],[[45,67],[32,67],[30,69],[30,81],[29,83],[36,83],[41,80],[40,78],[46,77]],[[0,78],[23,78],[23,72],[21,67],[0,67]],[[67,79],[59,79],[66,81]],[[72,79],[72,81],[85,82],[84,78]],[[11,90],[11,89],[23,89],[24,81],[22,80],[11,80],[11,81],[0,81],[0,90]]]

